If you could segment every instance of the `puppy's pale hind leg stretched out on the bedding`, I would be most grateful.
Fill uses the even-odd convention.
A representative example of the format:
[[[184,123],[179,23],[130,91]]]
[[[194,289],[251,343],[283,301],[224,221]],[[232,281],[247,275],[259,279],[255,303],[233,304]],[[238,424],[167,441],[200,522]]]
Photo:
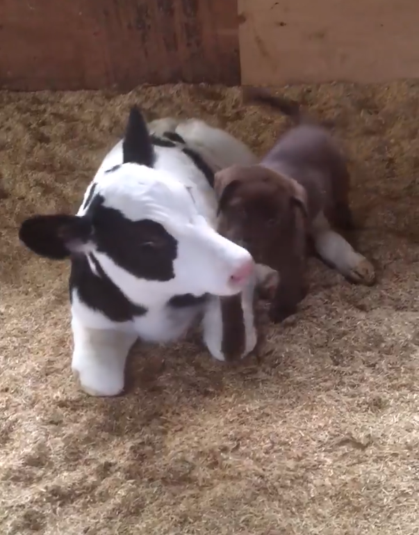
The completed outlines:
[[[319,214],[313,222],[313,241],[322,260],[348,280],[365,286],[374,284],[374,266],[357,253],[345,238],[331,229],[324,214]]]

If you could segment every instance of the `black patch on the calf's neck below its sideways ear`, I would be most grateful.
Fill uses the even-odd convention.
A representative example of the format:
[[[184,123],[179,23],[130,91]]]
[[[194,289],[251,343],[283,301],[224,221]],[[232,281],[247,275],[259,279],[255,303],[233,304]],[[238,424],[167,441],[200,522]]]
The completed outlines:
[[[129,301],[106,275],[94,255],[89,254],[89,258],[95,265],[98,275],[93,273],[87,257],[82,255],[72,257],[69,276],[70,301],[72,301],[72,291],[76,289],[79,298],[88,308],[102,312],[111,321],[118,323],[147,313],[147,308]]]

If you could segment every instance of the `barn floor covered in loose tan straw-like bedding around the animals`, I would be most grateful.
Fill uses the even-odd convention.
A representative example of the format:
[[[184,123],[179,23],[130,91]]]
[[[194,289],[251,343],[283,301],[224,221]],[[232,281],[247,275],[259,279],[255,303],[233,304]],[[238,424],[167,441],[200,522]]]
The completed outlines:
[[[105,400],[70,374],[68,266],[24,250],[17,224],[76,209],[129,102],[258,152],[284,120],[237,89],[0,93],[1,534],[418,532],[419,84],[286,93],[336,120],[377,286],[313,259],[311,294],[261,365],[227,368],[193,340],[146,348],[131,389]]]

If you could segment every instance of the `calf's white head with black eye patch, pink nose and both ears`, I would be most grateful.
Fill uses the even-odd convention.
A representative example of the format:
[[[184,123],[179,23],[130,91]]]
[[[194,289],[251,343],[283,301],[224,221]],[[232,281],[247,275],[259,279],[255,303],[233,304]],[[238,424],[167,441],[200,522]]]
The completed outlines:
[[[176,175],[154,168],[154,145],[136,108],[121,160],[95,177],[77,215],[33,216],[19,238],[50,259],[85,255],[94,273],[104,271],[133,301],[240,292],[254,269],[251,255],[208,225]]]

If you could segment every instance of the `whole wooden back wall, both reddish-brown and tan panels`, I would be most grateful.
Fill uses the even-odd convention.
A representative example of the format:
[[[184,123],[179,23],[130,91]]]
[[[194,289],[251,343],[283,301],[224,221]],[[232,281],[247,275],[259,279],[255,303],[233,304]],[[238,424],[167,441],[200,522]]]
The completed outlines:
[[[0,88],[419,78],[418,21],[418,0],[0,0]]]

